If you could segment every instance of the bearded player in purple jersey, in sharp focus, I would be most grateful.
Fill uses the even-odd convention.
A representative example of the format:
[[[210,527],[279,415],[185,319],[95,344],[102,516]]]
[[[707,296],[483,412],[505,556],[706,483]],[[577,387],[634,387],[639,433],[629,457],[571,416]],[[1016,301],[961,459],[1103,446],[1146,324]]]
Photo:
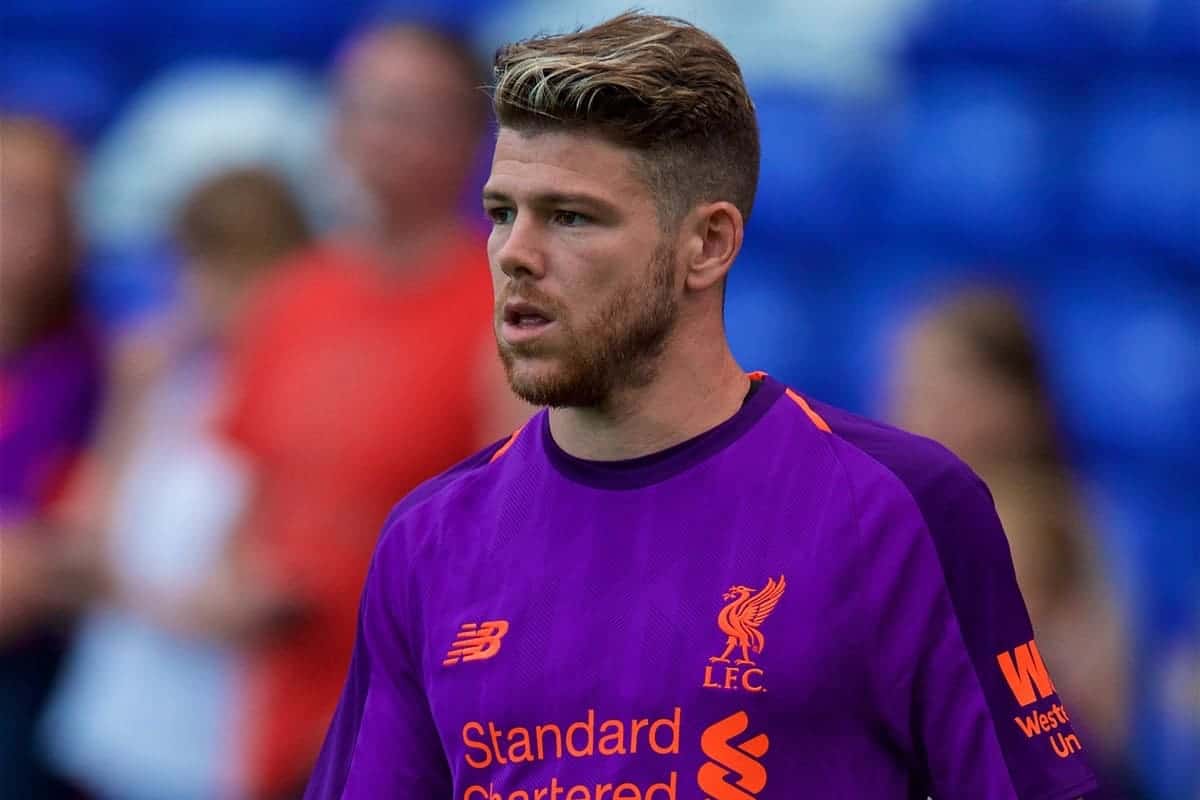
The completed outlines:
[[[394,510],[308,798],[1091,790],[984,486],[730,354],[728,52],[625,14],[496,76],[494,327],[551,409]]]

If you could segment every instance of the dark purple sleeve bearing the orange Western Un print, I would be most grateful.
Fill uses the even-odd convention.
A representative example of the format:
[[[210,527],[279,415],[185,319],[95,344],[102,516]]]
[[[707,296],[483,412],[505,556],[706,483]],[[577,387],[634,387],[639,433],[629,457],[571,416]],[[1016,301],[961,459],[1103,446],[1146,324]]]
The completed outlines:
[[[1072,800],[1097,788],[1042,658],[986,487],[958,465],[898,513],[916,529],[883,652],[934,800]],[[916,512],[914,515],[912,512]],[[900,633],[902,631],[902,633]]]

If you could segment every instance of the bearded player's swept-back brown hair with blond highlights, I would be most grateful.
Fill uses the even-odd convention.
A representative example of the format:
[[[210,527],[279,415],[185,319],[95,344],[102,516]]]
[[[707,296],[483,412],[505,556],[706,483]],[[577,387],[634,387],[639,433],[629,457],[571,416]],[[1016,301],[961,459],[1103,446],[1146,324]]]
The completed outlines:
[[[493,106],[521,133],[590,133],[637,155],[660,223],[727,200],[749,219],[758,125],[730,52],[695,25],[629,12],[500,48]]]

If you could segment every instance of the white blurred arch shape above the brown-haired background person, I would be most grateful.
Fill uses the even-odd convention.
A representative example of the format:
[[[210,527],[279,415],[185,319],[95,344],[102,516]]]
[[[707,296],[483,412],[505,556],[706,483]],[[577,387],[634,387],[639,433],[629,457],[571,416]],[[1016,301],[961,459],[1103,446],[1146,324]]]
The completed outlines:
[[[331,204],[328,107],[320,82],[292,67],[167,72],[134,95],[96,149],[80,209],[89,241],[108,252],[156,243],[198,181],[239,167],[278,172],[319,223]]]

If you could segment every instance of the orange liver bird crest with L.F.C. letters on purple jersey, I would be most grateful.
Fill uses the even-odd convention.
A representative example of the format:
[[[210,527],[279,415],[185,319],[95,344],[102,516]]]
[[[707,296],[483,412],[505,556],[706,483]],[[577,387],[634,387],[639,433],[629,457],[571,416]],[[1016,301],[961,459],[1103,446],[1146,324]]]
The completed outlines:
[[[787,581],[779,576],[778,581],[768,578],[762,589],[733,585],[721,595],[721,600],[727,603],[716,615],[716,626],[725,634],[725,650],[708,660],[709,663],[704,667],[704,688],[767,691],[763,686],[763,670],[751,654],[762,655],[767,639],[758,628],[775,610],[786,588]],[[730,656],[738,657],[731,663]]]

